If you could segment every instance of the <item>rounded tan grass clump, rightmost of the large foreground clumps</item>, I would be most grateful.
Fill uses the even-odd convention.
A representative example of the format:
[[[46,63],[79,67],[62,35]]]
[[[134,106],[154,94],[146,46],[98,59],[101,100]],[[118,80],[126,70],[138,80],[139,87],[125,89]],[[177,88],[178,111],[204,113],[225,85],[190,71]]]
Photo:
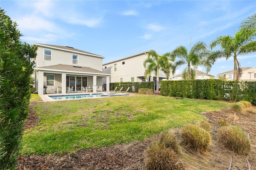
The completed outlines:
[[[247,155],[251,149],[246,133],[236,126],[221,127],[219,141],[224,147],[238,154]]]

